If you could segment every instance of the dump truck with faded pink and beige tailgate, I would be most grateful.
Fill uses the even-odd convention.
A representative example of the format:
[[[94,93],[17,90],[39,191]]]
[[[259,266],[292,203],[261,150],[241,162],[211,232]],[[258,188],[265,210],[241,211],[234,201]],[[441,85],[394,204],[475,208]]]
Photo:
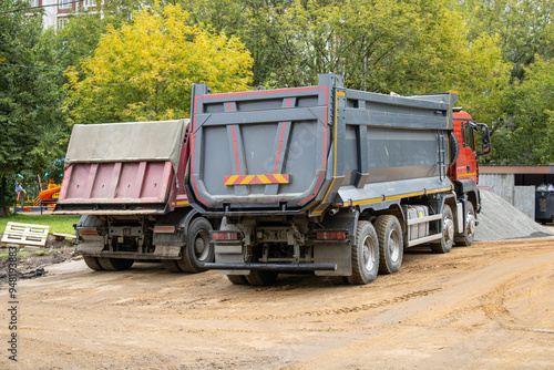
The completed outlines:
[[[82,215],[76,251],[93,270],[158,260],[199,273],[214,260],[207,219],[184,187],[189,120],[76,124],[54,214]]]

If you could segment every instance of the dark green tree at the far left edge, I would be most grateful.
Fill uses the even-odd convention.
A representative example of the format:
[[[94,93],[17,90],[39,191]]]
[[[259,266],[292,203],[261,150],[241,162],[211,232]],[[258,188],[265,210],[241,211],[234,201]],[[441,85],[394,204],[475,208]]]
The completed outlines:
[[[27,1],[7,0],[0,10],[24,7]],[[60,155],[63,92],[48,43],[40,13],[0,14],[0,215],[8,213],[16,174],[42,172]]]

